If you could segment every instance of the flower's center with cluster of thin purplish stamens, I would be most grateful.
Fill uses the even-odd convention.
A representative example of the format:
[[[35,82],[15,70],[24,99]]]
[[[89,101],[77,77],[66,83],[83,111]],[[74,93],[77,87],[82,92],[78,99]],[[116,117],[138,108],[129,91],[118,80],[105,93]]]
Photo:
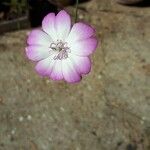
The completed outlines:
[[[57,54],[54,56],[54,60],[62,60],[68,58],[70,48],[67,46],[66,42],[57,40],[56,43],[51,43],[50,48],[53,52],[57,52]]]

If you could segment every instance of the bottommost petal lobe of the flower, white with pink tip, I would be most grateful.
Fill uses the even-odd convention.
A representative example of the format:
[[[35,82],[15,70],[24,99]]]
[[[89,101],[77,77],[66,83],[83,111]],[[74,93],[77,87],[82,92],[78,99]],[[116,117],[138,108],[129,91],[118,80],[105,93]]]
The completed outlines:
[[[64,79],[69,83],[75,83],[81,80],[81,76],[78,74],[69,58],[62,61],[62,72]]]

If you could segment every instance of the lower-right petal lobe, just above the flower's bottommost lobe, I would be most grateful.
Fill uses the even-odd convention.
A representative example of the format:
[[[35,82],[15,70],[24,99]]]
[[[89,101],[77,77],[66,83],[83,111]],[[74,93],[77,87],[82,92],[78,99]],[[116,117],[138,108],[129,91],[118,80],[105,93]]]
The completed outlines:
[[[80,57],[69,55],[69,58],[74,64],[75,69],[80,74],[88,74],[91,71],[91,60],[89,57]]]

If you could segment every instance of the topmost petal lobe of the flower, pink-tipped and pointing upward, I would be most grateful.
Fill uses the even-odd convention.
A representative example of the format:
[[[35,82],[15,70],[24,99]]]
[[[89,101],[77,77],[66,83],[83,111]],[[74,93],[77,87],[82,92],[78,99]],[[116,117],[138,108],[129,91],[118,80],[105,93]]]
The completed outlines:
[[[69,14],[62,10],[56,16],[56,30],[59,40],[65,40],[71,28],[71,19]]]

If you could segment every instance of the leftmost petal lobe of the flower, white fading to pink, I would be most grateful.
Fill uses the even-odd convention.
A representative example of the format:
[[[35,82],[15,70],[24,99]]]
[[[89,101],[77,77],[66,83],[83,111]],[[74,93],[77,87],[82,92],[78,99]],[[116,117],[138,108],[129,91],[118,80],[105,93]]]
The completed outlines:
[[[30,60],[39,61],[41,59],[47,58],[50,53],[48,47],[31,45],[26,47],[26,55]]]

